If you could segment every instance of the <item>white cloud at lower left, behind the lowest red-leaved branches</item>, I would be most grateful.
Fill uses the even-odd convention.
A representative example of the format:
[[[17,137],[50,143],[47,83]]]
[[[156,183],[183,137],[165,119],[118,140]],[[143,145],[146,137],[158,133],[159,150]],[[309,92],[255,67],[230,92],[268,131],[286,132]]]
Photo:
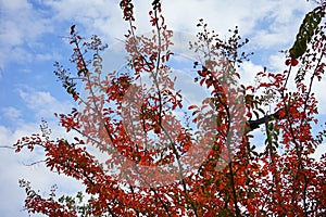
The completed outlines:
[[[55,128],[57,135],[66,135],[62,128],[60,129],[55,127],[57,125],[54,123],[50,123],[50,126]],[[39,132],[38,124],[24,124],[16,130],[10,130],[0,125],[0,146],[10,146],[23,136],[28,136],[35,132]],[[53,138],[55,138],[55,135],[53,135]],[[45,167],[43,163],[27,166],[45,158],[41,150],[35,150],[33,153],[27,150],[23,150],[20,153],[15,153],[14,150],[0,148],[0,158],[2,162],[0,164],[1,184],[2,187],[5,187],[0,188],[1,216],[27,216],[27,212],[23,210],[26,194],[24,189],[18,188],[20,179],[30,181],[32,187],[35,190],[40,190],[39,193],[45,196],[50,193],[49,190],[53,184],[58,184],[58,195],[75,195],[77,191],[84,189],[79,181],[49,171],[49,169]]]

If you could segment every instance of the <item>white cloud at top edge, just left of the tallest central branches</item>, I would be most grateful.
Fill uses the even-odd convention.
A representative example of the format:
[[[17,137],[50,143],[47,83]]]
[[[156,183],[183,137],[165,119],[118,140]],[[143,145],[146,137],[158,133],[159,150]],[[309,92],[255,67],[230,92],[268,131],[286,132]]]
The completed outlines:
[[[77,30],[88,36],[97,34],[112,40],[122,37],[127,30],[128,25],[122,20],[117,1],[58,0],[45,1],[45,4],[53,10],[53,21],[77,23]]]

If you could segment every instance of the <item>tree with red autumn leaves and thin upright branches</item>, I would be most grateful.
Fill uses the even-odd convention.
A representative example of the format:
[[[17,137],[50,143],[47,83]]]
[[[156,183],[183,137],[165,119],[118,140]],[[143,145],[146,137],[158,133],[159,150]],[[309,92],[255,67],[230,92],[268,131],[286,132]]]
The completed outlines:
[[[308,13],[296,42],[285,51],[288,69],[256,74],[255,86],[239,86],[237,66],[249,58],[240,52],[249,41],[238,28],[218,38],[200,20],[190,49],[195,82],[209,92],[201,103],[186,106],[168,64],[174,56],[173,31],[154,0],[149,15],[153,33],[137,36],[134,5],[122,0],[129,23],[125,50],[127,69],[104,74],[101,52],[71,27],[72,76],[55,63],[55,75],[79,104],[55,114],[74,141],[52,140],[46,123],[41,135],[18,140],[16,152],[43,148],[46,166],[82,180],[86,194],[41,197],[21,180],[29,213],[49,216],[322,216],[326,214],[326,155],[311,157],[326,131],[317,135],[317,99],[312,86],[322,79],[325,62],[325,2]],[[290,75],[296,74],[294,80]],[[288,88],[296,84],[296,90]],[[309,81],[306,84],[306,81]],[[82,84],[82,86],[80,86]],[[83,97],[79,89],[87,97]],[[274,103],[271,101],[273,100]],[[265,112],[266,105],[274,113]],[[179,115],[186,111],[185,117]],[[265,149],[259,153],[252,130],[265,125]],[[105,163],[88,146],[105,153]]]

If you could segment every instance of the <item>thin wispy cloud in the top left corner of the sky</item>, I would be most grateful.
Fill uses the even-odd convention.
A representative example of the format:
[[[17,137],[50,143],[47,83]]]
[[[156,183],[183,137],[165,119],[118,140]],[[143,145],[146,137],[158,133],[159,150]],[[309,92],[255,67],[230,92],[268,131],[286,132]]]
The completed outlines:
[[[0,0],[0,67],[9,62],[29,62],[28,47],[33,48],[42,34],[52,31],[49,20],[27,0]]]

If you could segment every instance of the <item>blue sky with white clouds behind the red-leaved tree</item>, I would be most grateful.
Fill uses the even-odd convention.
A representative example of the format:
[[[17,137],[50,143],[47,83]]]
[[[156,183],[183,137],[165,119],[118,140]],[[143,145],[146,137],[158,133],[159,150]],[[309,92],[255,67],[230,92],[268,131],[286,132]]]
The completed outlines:
[[[0,0],[0,145],[11,145],[22,136],[39,132],[41,118],[49,122],[53,137],[70,137],[60,128],[53,113],[66,113],[74,102],[53,75],[53,63],[70,66],[71,47],[65,36],[76,24],[82,36],[96,34],[110,47],[124,39],[127,24],[117,0]],[[135,1],[138,33],[150,30],[148,12],[151,1]],[[200,18],[222,38],[239,26],[241,36],[250,39],[248,51],[255,54],[242,66],[243,82],[253,81],[255,73],[267,66],[283,72],[285,59],[279,50],[294,41],[304,14],[314,8],[305,0],[165,0],[163,13],[167,26],[195,36]],[[110,55],[109,55],[110,56]],[[104,59],[105,61],[105,59]],[[324,76],[325,77],[325,76]],[[326,119],[325,79],[314,86],[322,119]],[[322,123],[319,123],[322,124]],[[325,146],[316,153],[325,153]],[[48,171],[35,153],[14,153],[0,149],[0,216],[28,216],[23,210],[24,189],[18,179],[32,182],[41,194],[58,184],[58,194],[83,190],[78,181]]]

